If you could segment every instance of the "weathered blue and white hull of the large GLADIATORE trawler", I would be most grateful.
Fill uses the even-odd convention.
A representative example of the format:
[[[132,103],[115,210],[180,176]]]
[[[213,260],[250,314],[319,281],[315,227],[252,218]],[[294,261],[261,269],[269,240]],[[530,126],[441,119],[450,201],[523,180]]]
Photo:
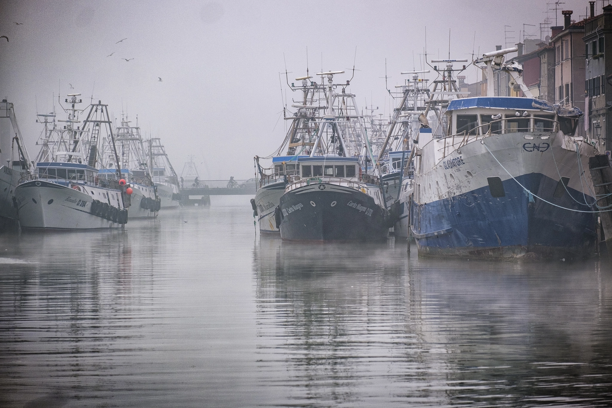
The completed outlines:
[[[562,133],[493,135],[455,150],[415,177],[420,199],[412,202],[411,224],[419,255],[517,259],[535,253],[564,259],[592,254],[597,214],[586,204],[595,201],[588,167],[595,149],[582,143],[578,150],[580,155]]]

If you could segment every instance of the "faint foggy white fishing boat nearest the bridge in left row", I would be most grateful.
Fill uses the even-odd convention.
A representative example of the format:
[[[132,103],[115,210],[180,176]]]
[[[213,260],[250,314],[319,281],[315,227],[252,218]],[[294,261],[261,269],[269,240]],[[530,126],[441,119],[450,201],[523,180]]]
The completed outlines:
[[[149,147],[147,157],[149,158],[149,169],[152,171],[152,179],[157,187],[157,196],[161,200],[163,209],[177,208],[181,201],[179,189],[179,177],[170,163],[160,138],[150,138],[147,141]]]

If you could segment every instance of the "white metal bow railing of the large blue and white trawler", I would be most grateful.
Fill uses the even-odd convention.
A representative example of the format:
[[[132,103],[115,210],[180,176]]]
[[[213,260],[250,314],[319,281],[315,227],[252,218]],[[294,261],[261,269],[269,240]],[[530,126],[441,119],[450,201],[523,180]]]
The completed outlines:
[[[479,125],[474,128],[471,128],[469,131],[464,130],[461,133],[455,133],[454,135],[444,136],[442,138],[436,139],[438,141],[443,141],[444,146],[438,149],[438,152],[442,152],[442,158],[446,157],[446,150],[451,148],[451,151],[455,149],[460,149],[468,143],[475,142],[479,139],[487,138],[491,135],[506,135],[507,133],[520,133],[520,132],[552,132],[556,133],[559,129],[559,122],[554,119],[543,119],[543,121],[547,121],[553,125],[553,127],[546,127],[540,130],[535,130],[535,127],[515,127],[508,128],[507,125],[500,126],[501,128],[498,130],[493,130],[491,132],[491,124],[499,123],[501,125],[502,122],[507,121],[516,121],[517,119],[532,119],[531,117],[504,117],[502,119],[496,119],[495,121],[488,122],[487,124]],[[507,123],[506,123],[507,124]]]

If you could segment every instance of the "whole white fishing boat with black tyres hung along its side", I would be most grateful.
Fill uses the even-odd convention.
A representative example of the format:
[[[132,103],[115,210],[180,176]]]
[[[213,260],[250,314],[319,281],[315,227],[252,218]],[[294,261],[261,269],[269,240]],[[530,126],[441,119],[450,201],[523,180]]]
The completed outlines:
[[[70,99],[65,100],[71,106],[64,109],[67,120],[45,116],[35,171],[21,177],[15,188],[22,228],[121,228],[127,223],[124,203],[129,200],[129,191],[118,180],[98,176],[101,133],[106,130],[111,143],[114,140],[108,107],[100,101],[92,103],[78,126],[81,111],[75,106],[82,102],[76,98],[79,95],[69,94]],[[57,122],[65,125],[60,127]]]

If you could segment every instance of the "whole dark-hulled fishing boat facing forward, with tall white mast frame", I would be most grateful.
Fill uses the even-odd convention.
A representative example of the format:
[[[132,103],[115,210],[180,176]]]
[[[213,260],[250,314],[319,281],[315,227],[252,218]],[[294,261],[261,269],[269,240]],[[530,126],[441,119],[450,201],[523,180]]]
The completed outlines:
[[[296,174],[287,176],[280,197],[276,220],[283,240],[384,240],[392,226],[379,177],[362,172],[362,143],[370,157],[371,147],[355,95],[346,92],[350,81],[334,84],[340,73],[317,74],[327,78],[326,108],[316,118],[309,157],[296,158]]]

